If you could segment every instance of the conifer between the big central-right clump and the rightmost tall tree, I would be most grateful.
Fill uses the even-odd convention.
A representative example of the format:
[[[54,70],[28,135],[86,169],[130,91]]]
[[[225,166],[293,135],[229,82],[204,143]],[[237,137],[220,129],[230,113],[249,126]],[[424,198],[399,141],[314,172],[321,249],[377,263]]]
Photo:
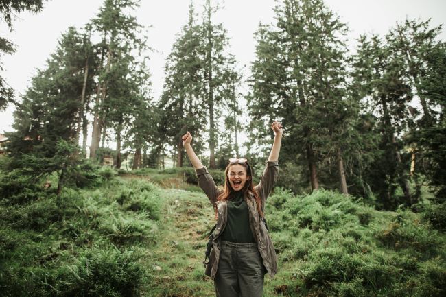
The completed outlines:
[[[401,157],[403,143],[399,136],[410,124],[408,104],[412,93],[401,67],[402,60],[392,56],[390,48],[378,36],[362,36],[355,61],[357,87],[362,87],[367,105],[374,110],[377,132],[381,135],[379,156],[369,175],[373,191],[379,193],[384,209],[393,209],[401,202],[411,205],[407,169]],[[395,196],[397,185],[403,191],[403,201]]]

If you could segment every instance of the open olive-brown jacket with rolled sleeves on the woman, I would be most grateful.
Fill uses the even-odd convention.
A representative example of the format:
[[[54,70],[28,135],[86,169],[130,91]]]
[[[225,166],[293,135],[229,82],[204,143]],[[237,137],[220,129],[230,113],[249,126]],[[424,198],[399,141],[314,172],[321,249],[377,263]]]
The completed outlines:
[[[261,198],[261,211],[263,213],[265,213],[266,198],[268,198],[268,195],[274,187],[278,172],[279,164],[277,161],[266,161],[266,167],[260,178],[260,183],[259,185],[255,186],[255,190],[257,193],[259,193]],[[218,211],[217,226],[213,233],[214,239],[212,242],[212,251],[211,255],[209,256],[209,264],[206,267],[206,272],[204,272],[204,274],[207,276],[215,278],[215,273],[217,272],[218,268],[218,261],[220,259],[220,235],[226,226],[228,204],[227,201],[217,201],[217,197],[220,195],[222,190],[215,186],[215,182],[213,181],[213,178],[211,174],[209,174],[206,167],[196,169],[196,175],[198,177],[198,185],[200,185],[201,189],[204,191],[204,193],[206,193],[214,209],[217,209]],[[276,252],[274,251],[274,246],[272,245],[272,240],[268,230],[266,230],[265,224],[263,224],[259,217],[259,212],[257,211],[257,205],[255,204],[253,193],[248,192],[246,204],[248,205],[250,227],[253,231],[253,236],[257,241],[257,247],[259,248],[261,258],[263,259],[263,265],[272,277],[277,273],[277,256]]]

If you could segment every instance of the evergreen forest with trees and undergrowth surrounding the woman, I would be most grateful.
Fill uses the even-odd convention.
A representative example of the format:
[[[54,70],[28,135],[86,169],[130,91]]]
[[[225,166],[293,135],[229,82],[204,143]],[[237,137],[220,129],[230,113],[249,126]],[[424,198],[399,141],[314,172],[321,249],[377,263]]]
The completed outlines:
[[[234,157],[258,181],[276,120],[265,296],[446,295],[441,25],[403,19],[351,50],[323,0],[279,0],[245,77],[218,5],[191,2],[153,97],[139,4],[104,0],[68,27],[19,99],[0,72],[0,109],[16,108],[0,143],[0,296],[213,296],[213,209],[181,136],[216,183]],[[44,6],[1,1],[1,19]],[[15,49],[0,36],[0,59]]]

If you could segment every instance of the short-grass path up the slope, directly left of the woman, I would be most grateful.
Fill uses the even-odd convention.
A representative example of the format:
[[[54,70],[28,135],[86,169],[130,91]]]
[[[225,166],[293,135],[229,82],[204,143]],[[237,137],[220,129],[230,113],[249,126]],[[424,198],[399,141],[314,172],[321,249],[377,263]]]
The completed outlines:
[[[143,296],[214,296],[202,264],[214,222],[209,200],[202,193],[180,189],[163,189],[163,195],[160,237],[148,263],[150,288]]]

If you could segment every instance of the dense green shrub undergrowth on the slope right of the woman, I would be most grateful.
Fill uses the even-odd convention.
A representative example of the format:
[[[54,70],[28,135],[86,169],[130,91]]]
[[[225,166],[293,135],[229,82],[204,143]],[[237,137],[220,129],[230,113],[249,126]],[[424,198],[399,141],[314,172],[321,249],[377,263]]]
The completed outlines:
[[[285,268],[274,285],[287,296],[445,292],[445,237],[412,211],[376,211],[325,190],[294,196],[277,189],[266,213]]]

